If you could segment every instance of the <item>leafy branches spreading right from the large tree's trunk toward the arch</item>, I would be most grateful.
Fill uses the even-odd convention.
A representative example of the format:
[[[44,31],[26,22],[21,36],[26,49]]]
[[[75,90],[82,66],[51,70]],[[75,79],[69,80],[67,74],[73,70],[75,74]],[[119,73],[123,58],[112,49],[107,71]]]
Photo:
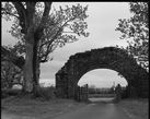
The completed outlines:
[[[58,46],[62,47],[66,43],[77,41],[77,36],[88,37],[89,33],[85,33],[88,25],[84,22],[88,17],[86,10],[88,7],[83,8],[80,4],[54,10],[48,17],[47,27],[39,43],[38,53],[42,62],[47,61],[48,55]]]

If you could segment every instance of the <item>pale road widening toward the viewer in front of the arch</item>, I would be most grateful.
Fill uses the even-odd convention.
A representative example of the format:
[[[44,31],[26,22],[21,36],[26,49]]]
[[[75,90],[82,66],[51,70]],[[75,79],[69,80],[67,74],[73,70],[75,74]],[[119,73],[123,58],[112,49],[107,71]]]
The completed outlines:
[[[116,104],[95,103],[54,119],[130,119]]]

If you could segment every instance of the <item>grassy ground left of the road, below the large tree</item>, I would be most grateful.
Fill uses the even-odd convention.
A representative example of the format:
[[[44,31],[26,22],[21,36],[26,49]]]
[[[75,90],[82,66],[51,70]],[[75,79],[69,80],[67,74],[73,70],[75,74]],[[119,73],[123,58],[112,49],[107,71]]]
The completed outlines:
[[[8,97],[2,99],[2,119],[53,119],[58,115],[78,109],[84,103],[71,99],[19,98]]]

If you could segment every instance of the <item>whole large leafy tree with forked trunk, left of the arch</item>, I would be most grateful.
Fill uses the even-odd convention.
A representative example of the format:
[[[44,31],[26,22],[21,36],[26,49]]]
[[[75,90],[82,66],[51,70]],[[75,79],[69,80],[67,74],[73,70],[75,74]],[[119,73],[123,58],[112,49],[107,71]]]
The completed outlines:
[[[48,55],[58,46],[88,37],[84,21],[86,7],[80,4],[51,10],[51,2],[2,2],[1,14],[5,20],[13,16],[10,33],[20,39],[13,50],[25,56],[23,66],[26,93],[36,93],[39,84],[39,62],[48,61]]]

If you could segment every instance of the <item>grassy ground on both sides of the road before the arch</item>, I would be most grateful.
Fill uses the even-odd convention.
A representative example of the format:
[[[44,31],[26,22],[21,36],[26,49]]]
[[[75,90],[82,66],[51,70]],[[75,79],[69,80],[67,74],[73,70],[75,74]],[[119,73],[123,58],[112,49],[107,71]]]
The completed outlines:
[[[85,106],[71,99],[7,97],[1,100],[2,119],[54,119]],[[148,99],[123,99],[118,105],[130,119],[148,119]]]

